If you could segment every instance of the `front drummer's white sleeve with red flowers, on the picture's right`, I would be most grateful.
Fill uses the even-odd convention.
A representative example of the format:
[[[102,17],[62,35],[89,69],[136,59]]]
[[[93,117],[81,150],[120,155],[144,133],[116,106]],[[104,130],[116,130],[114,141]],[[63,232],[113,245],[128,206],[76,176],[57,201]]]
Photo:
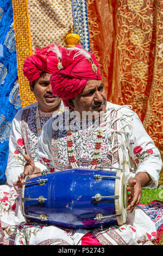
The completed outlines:
[[[159,150],[155,147],[152,138],[147,134],[136,113],[130,117],[130,124],[132,132],[128,136],[128,150],[137,167],[135,174],[148,173],[152,180],[145,187],[155,188],[158,186],[159,173],[162,167]]]

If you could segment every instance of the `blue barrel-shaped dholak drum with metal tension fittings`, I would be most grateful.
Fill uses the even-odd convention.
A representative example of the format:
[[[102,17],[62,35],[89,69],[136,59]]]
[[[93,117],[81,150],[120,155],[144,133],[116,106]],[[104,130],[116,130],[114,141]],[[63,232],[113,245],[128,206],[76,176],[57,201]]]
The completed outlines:
[[[28,220],[66,228],[122,225],[127,215],[122,170],[69,169],[26,179],[22,211]]]

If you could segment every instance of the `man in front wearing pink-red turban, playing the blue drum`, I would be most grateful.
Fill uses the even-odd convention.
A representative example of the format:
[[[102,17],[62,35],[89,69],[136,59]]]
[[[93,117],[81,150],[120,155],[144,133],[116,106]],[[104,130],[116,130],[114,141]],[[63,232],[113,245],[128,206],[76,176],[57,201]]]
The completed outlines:
[[[152,244],[156,236],[155,224],[137,204],[142,187],[152,189],[158,186],[162,164],[159,150],[130,106],[107,102],[99,65],[93,54],[82,48],[70,48],[62,54],[61,64],[62,68],[54,72],[50,81],[53,94],[64,101],[67,109],[44,125],[34,164],[28,162],[24,175],[35,171],[44,173],[49,168],[55,172],[82,169],[85,176],[87,170],[103,169],[105,173],[108,168],[122,169],[123,182],[130,187],[131,202],[128,207],[126,203],[121,205],[118,226],[90,231],[84,227],[74,230],[59,228],[55,222],[42,229],[35,225],[35,236],[28,236],[29,245]],[[58,182],[62,187],[63,180]],[[76,184],[76,180],[72,184]],[[68,198],[67,194],[65,198]],[[125,192],[122,198],[125,199]],[[81,195],[70,200],[73,211],[77,200],[82,204],[83,199]],[[65,219],[68,208],[65,204]],[[85,216],[89,218],[89,207]],[[68,217],[66,220],[68,222]],[[18,239],[15,241],[18,243]]]

